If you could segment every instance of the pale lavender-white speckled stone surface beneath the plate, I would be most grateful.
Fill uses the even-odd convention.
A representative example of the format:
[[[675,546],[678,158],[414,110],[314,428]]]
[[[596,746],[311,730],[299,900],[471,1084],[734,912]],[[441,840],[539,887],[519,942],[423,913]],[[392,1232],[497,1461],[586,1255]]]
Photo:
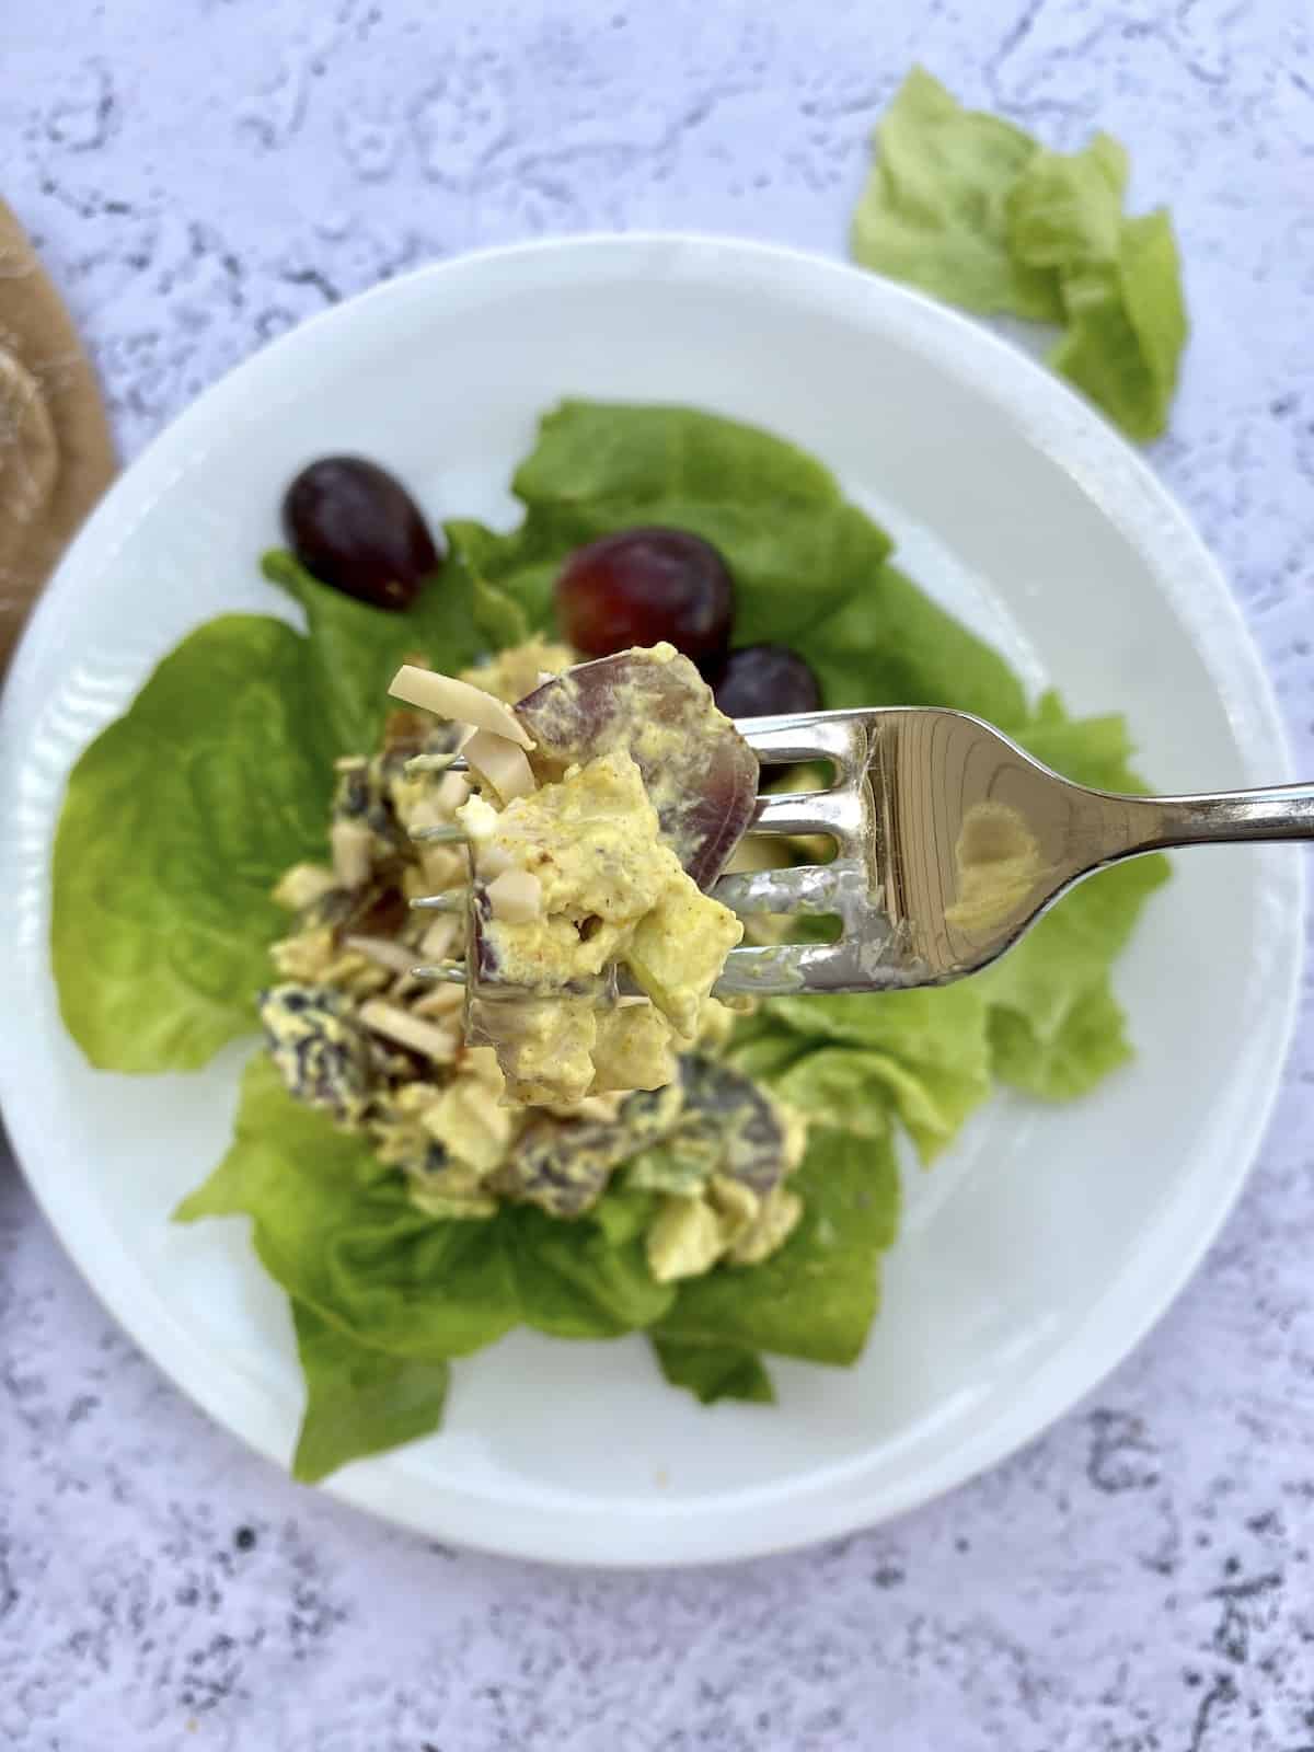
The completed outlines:
[[[0,5],[0,186],[126,452],[261,342],[480,244],[837,252],[915,58],[1169,198],[1195,342],[1155,463],[1314,773],[1309,0]],[[885,1529],[571,1575],[392,1533],[212,1428],[0,1165],[0,1745],[1309,1752],[1314,1009],[1207,1267],[1099,1395]]]

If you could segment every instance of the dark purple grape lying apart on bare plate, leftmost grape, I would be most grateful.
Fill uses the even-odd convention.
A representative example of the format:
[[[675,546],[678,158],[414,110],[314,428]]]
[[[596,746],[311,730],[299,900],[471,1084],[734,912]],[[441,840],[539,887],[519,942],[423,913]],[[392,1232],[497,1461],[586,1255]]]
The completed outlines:
[[[324,456],[303,468],[284,496],[282,520],[308,573],[373,608],[408,608],[442,559],[401,482],[359,456]]]

